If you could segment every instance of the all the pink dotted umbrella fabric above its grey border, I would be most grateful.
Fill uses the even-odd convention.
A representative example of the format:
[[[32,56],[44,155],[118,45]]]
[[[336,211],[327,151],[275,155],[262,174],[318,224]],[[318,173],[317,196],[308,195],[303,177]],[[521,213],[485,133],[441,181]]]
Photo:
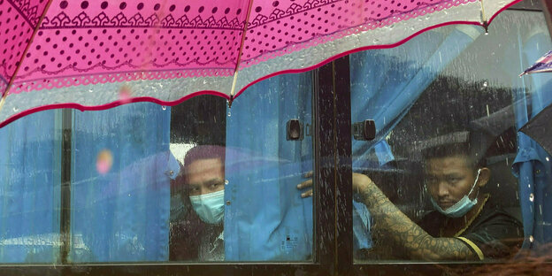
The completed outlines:
[[[386,27],[477,1],[53,0],[22,57],[47,1],[0,0],[0,83],[5,88],[19,62],[9,93],[232,76],[241,48],[240,68],[326,42],[351,27]]]

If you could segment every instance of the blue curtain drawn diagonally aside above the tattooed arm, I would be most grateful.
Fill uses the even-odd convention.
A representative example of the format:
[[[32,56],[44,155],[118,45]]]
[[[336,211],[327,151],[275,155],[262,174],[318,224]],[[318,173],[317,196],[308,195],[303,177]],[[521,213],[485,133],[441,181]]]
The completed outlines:
[[[372,142],[353,141],[353,169],[378,167],[394,160],[385,137],[403,119],[418,96],[442,69],[480,34],[479,27],[458,26],[449,34],[430,31],[393,49],[368,50],[350,56],[351,119],[373,119]],[[370,154],[378,157],[370,164]]]

